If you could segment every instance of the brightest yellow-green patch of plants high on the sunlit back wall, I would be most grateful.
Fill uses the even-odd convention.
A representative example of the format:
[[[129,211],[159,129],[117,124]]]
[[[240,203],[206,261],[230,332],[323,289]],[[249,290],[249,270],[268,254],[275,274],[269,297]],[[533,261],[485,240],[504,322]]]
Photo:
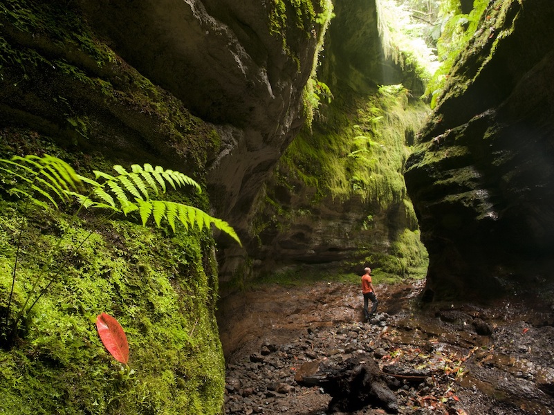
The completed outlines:
[[[341,200],[358,195],[386,207],[405,195],[404,134],[417,129],[425,113],[408,108],[408,91],[401,85],[381,86],[375,95],[350,101],[357,107],[352,116],[331,113],[331,128],[302,132],[279,163],[316,195]],[[336,99],[333,104],[345,105]]]

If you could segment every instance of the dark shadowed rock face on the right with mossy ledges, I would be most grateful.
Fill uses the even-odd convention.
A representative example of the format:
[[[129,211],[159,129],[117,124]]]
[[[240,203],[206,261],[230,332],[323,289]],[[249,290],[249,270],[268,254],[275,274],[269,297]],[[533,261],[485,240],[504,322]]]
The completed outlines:
[[[406,164],[427,298],[552,281],[554,10],[495,1]]]

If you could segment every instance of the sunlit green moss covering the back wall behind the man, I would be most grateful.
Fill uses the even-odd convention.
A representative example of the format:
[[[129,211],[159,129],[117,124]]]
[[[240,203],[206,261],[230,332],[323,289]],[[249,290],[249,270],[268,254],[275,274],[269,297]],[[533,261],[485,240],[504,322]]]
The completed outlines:
[[[313,221],[325,221],[315,211],[327,212],[329,199],[344,202],[348,214],[349,204],[361,201],[365,216],[358,218],[345,241],[356,244],[356,252],[329,268],[357,269],[360,261],[366,261],[372,268],[382,268],[387,278],[423,277],[427,252],[414,232],[418,225],[405,190],[403,165],[410,152],[406,136],[418,129],[427,107],[409,102],[401,85],[382,86],[367,95],[339,92],[325,105],[313,129],[304,129],[279,160],[273,185],[268,185],[266,198],[259,203],[253,232],[261,234],[263,246],[264,238],[273,238],[275,232],[309,223],[304,210],[310,211]],[[394,224],[377,223],[385,220]],[[378,234],[384,227],[391,246],[373,242],[385,239]],[[368,257],[367,252],[376,254]],[[315,265],[298,268],[291,266],[286,272],[306,279],[311,268],[317,270]]]

